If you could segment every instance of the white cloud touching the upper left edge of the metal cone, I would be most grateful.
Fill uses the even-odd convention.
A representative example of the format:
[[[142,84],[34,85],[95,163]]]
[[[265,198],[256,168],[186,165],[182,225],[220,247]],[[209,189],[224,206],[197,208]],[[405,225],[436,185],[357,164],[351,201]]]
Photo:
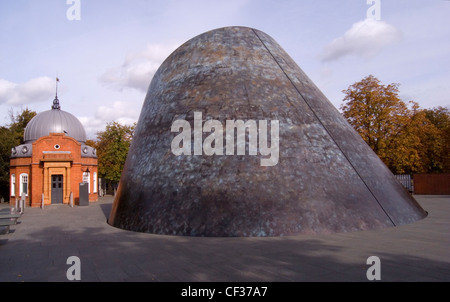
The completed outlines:
[[[108,70],[99,80],[119,91],[132,88],[146,93],[156,70],[177,46],[149,44],[143,51],[129,54],[120,67]]]

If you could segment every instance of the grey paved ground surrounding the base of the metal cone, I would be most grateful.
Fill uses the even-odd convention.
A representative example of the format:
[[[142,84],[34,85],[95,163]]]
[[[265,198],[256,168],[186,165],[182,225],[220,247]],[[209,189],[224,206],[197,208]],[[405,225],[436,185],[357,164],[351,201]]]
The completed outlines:
[[[192,238],[134,233],[106,223],[111,197],[87,207],[26,208],[0,236],[0,281],[450,281],[450,196],[415,196],[426,219],[377,231],[275,238]],[[2,204],[1,207],[4,207]]]

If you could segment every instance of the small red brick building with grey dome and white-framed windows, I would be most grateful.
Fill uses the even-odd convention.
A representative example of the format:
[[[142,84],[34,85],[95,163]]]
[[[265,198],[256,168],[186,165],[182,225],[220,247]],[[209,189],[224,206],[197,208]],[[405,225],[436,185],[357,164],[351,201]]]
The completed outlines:
[[[11,152],[10,203],[26,196],[26,205],[79,203],[80,184],[89,202],[98,200],[96,150],[86,143],[80,121],[61,110],[58,97],[51,110],[36,115],[25,128],[24,144]]]

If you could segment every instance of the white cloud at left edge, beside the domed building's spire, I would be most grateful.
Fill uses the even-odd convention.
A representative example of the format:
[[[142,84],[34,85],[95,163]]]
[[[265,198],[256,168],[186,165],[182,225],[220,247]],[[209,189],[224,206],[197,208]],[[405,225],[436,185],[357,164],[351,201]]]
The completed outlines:
[[[26,105],[48,101],[55,93],[55,80],[39,77],[17,84],[0,79],[0,104]]]

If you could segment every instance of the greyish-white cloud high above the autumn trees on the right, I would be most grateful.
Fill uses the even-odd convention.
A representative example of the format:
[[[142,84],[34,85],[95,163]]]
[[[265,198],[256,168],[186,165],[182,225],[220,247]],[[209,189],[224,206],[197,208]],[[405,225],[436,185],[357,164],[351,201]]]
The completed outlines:
[[[334,61],[347,55],[370,58],[385,46],[398,42],[400,31],[394,26],[373,18],[357,22],[342,36],[325,47],[321,60]]]

